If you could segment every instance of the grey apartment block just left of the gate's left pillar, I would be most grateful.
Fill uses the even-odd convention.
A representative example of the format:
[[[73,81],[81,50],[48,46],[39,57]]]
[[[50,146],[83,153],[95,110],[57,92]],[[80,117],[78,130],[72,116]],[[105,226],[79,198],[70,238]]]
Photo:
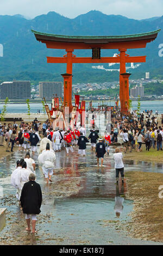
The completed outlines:
[[[62,97],[62,82],[39,82],[39,97],[43,99],[52,99],[57,94]]]

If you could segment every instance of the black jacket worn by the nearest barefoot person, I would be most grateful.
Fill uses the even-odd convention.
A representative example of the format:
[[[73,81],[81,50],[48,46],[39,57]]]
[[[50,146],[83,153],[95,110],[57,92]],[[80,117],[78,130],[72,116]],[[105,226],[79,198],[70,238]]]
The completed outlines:
[[[23,214],[40,214],[42,203],[40,185],[32,180],[26,182],[22,188],[20,202]]]

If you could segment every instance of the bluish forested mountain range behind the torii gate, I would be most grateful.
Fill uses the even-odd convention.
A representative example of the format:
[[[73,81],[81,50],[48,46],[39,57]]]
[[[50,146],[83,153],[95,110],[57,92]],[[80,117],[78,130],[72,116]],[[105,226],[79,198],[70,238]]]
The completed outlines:
[[[147,62],[139,68],[129,70],[132,77],[163,78],[163,57],[159,57],[159,45],[163,46],[163,16],[153,19],[134,20],[121,15],[105,15],[99,11],[79,15],[74,19],[61,16],[54,11],[27,20],[21,15],[0,16],[0,44],[3,57],[0,57],[0,82],[17,79],[61,81],[60,74],[66,71],[65,64],[47,64],[46,56],[62,56],[65,51],[47,49],[45,44],[36,41],[31,29],[39,32],[63,35],[123,35],[154,31],[161,28],[158,38],[146,48],[130,50],[133,56],[146,55]],[[118,50],[103,50],[102,56],[112,56]],[[162,51],[163,53],[163,51]],[[90,50],[75,51],[77,56],[91,56]],[[104,64],[108,68],[108,64]],[[73,65],[73,82],[99,82],[118,79],[118,72],[106,72],[91,68],[91,64]],[[130,77],[131,78],[131,77]],[[95,81],[96,80],[96,81]]]

